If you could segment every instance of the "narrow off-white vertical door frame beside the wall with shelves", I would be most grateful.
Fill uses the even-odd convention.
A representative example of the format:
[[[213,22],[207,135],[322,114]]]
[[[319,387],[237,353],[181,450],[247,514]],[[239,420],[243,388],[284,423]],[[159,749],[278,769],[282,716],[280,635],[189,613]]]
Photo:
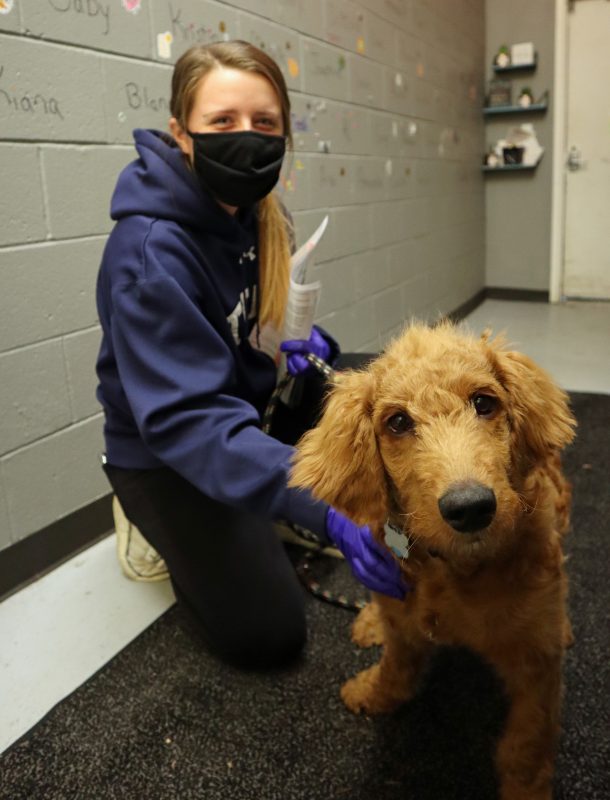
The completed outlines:
[[[553,162],[551,180],[551,264],[549,300],[563,295],[566,225],[566,138],[568,98],[568,13],[570,0],[555,0],[555,57],[553,63]]]

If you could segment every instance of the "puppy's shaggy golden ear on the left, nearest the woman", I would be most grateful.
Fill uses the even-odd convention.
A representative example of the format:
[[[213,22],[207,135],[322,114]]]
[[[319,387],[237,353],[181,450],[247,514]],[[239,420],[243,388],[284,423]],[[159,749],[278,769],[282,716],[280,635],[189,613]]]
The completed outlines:
[[[310,489],[354,522],[382,525],[388,511],[385,473],[372,420],[371,372],[342,373],[317,427],[297,444],[291,486]]]

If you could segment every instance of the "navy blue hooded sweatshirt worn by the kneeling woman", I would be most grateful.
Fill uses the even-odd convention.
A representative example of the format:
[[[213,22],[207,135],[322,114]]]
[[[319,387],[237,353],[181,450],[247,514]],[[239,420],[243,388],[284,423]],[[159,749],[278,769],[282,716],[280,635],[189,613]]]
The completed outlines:
[[[108,463],[167,465],[208,497],[323,534],[327,506],[287,487],[293,450],[260,428],[277,374],[256,347],[255,212],[224,211],[166,134],[134,138],[97,286]]]

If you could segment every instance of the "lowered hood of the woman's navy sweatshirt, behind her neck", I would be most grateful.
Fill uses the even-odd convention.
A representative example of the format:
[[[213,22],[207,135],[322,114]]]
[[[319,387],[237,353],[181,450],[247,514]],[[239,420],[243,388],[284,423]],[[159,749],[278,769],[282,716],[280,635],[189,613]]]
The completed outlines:
[[[139,158],[119,176],[112,219],[141,215],[217,233],[234,227],[237,220],[204,192],[169,134],[136,128],[133,137]]]

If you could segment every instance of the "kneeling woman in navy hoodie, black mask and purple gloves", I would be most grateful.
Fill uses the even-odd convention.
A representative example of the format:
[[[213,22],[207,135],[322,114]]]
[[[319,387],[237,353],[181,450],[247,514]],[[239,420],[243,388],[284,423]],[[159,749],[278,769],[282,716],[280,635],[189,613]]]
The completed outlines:
[[[246,42],[193,47],[174,69],[171,114],[171,135],[134,131],[138,158],[112,199],[97,294],[105,470],[209,646],[275,666],[301,651],[306,629],[274,520],[330,540],[369,588],[404,588],[367,527],[287,487],[291,445],[319,397],[302,354],[338,353],[320,329],[282,343],[304,401],[281,409],[273,436],[261,430],[290,258],[272,193],[291,142],[283,76]]]

